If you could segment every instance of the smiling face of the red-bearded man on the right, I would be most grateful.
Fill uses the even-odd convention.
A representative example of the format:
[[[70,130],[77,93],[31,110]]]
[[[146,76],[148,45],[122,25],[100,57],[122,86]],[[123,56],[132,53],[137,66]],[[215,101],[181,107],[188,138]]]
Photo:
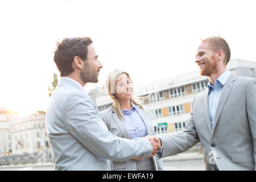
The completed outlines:
[[[201,76],[210,76],[217,72],[216,53],[210,48],[208,42],[203,42],[197,48],[196,61]]]

